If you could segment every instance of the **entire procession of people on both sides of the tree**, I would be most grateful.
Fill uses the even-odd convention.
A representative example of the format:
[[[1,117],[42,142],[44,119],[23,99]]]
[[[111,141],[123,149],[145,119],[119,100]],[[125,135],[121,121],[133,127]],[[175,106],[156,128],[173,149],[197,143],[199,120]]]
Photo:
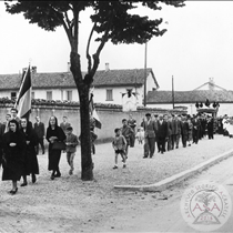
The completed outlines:
[[[69,174],[73,174],[73,159],[77,152],[77,145],[80,143],[77,135],[72,133],[72,126],[68,118],[62,118],[62,123],[52,115],[48,120],[48,128],[40,121],[39,115],[32,123],[27,118],[19,119],[17,109],[11,109],[11,113],[6,115],[6,122],[0,123],[0,158],[2,162],[2,180],[12,181],[11,194],[18,191],[18,182],[22,180],[20,186],[28,185],[28,176],[31,175],[31,182],[37,182],[39,174],[39,144],[41,153],[45,153],[44,140],[48,141],[48,170],[51,171],[51,180],[61,176],[59,163],[62,152],[67,152],[67,162],[69,164]],[[95,153],[94,140],[94,119],[90,116],[90,133],[94,134],[91,140],[91,152]],[[233,136],[233,119],[219,118],[215,125],[214,118],[209,114],[153,114],[148,112],[138,123],[132,113],[129,119],[122,119],[122,125],[114,129],[114,139],[112,146],[114,149],[114,166],[119,168],[118,155],[123,162],[123,169],[126,168],[126,161],[130,154],[130,148],[133,148],[138,141],[142,144],[142,158],[153,158],[155,153],[165,153],[180,146],[186,148],[197,144],[203,138],[214,139],[215,131],[223,135]]]

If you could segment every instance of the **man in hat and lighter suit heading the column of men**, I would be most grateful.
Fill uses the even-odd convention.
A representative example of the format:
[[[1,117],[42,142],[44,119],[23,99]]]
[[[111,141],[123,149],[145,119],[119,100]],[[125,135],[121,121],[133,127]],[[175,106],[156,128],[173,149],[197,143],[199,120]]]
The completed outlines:
[[[154,120],[151,119],[151,113],[145,114],[145,122],[144,122],[144,156],[143,159],[154,155],[155,150],[155,131],[156,131],[156,123]]]

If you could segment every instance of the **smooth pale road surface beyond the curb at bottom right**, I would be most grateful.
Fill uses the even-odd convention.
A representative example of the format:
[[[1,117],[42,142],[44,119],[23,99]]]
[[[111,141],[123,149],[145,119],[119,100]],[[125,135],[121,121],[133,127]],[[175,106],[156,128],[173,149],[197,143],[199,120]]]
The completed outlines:
[[[114,229],[111,231],[118,231],[120,224],[123,223],[122,232],[170,232],[170,233],[188,233],[188,232],[204,232],[201,230],[194,230],[184,221],[181,214],[181,197],[184,191],[192,183],[211,180],[219,184],[223,184],[224,188],[231,195],[233,201],[233,158],[230,158],[221,163],[210,168],[209,170],[202,172],[199,175],[195,175],[192,179],[183,182],[180,185],[173,186],[170,191],[164,193],[161,200],[152,199],[154,194],[148,194],[146,201],[142,201],[142,204],[149,203],[151,206],[148,210],[141,211],[139,215],[135,215],[135,212],[126,213],[123,215],[122,212],[120,215],[111,219],[100,231],[110,230],[110,225],[114,225]],[[166,200],[168,197],[168,200]],[[143,203],[144,202],[144,203]],[[232,207],[233,209],[233,207]],[[124,221],[124,222],[123,222]],[[222,227],[213,232],[233,232],[233,210],[229,221],[222,225]]]

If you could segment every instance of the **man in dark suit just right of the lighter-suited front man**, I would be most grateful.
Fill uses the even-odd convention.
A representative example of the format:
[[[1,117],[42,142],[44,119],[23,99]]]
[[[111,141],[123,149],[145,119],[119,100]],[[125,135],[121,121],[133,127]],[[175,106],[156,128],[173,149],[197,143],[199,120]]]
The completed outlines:
[[[156,129],[156,143],[158,143],[158,149],[159,152],[162,154],[165,152],[165,140],[168,139],[169,135],[169,128],[168,128],[168,116],[165,115],[165,120],[163,120],[163,115],[159,115],[158,120],[158,129]]]

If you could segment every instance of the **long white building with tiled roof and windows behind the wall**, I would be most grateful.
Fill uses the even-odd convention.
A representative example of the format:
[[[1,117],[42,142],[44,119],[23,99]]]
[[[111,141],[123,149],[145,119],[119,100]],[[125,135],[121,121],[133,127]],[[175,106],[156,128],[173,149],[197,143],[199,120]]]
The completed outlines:
[[[16,98],[21,79],[21,74],[0,74],[0,98]],[[38,73],[34,68],[31,79],[33,99],[79,101],[71,72]],[[125,97],[133,95],[136,104],[143,105],[144,91],[156,90],[159,84],[150,68],[110,70],[107,65],[105,70],[97,71],[93,88],[94,102],[122,104]]]

